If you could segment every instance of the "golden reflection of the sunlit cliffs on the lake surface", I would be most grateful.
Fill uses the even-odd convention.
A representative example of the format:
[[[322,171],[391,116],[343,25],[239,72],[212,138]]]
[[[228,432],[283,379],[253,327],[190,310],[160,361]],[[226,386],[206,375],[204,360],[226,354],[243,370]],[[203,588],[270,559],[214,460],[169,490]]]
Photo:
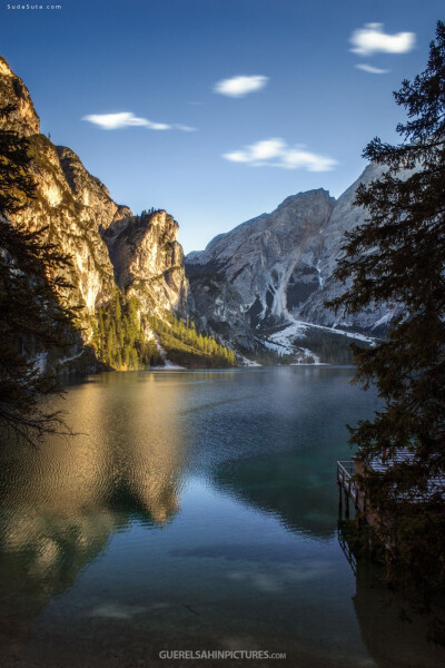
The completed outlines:
[[[122,396],[122,380],[103,376],[111,392],[98,391],[97,382],[70,389],[62,407],[80,418],[75,429],[80,423],[82,434],[48,439],[37,450],[10,442],[0,452],[2,640],[26,640],[32,619],[113,533],[134,519],[162,525],[179,508],[176,424],[160,420],[150,402],[138,406],[127,384]]]

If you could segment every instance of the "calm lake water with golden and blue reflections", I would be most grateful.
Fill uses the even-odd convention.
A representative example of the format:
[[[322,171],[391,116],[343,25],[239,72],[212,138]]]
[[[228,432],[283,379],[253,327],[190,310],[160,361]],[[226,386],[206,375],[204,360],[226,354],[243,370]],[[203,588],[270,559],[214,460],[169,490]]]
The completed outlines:
[[[442,667],[425,621],[337,538],[335,367],[111,373],[68,389],[76,439],[0,452],[0,666]],[[57,403],[57,402],[56,402]],[[160,650],[283,660],[172,660]]]

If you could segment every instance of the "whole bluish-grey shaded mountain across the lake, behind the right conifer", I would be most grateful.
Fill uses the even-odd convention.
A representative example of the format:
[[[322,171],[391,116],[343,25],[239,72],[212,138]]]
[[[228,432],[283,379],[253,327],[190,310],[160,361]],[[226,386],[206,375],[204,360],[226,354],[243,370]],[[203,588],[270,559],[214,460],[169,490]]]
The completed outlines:
[[[346,286],[333,276],[342,256],[345,233],[363,224],[366,212],[354,205],[360,183],[379,178],[383,169],[368,166],[338,200],[326,190],[309,190],[285,199],[271,214],[243,223],[215,237],[202,252],[186,257],[186,269],[197,308],[215,328],[224,323],[237,338],[244,313],[250,332],[268,332],[297,320],[317,325],[375,332],[397,313],[393,305],[356,315],[335,315],[325,301]],[[208,287],[206,288],[205,285]],[[202,289],[212,298],[204,301]],[[229,291],[231,288],[231,291]],[[231,305],[239,311],[233,315]]]

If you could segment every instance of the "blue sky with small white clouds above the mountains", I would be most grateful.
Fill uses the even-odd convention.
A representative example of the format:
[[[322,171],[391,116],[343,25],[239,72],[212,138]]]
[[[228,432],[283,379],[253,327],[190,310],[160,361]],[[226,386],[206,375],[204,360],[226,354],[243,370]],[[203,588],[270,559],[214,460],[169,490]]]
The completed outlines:
[[[348,187],[368,140],[396,140],[392,91],[445,19],[436,0],[58,3],[0,0],[1,55],[42,132],[120,204],[171,213],[186,252],[300,190]]]

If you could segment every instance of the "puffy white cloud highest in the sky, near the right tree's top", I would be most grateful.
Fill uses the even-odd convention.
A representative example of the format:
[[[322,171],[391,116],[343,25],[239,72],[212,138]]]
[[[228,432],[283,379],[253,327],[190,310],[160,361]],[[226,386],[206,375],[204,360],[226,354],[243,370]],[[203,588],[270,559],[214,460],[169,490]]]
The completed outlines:
[[[379,51],[385,53],[406,53],[414,48],[414,32],[397,32],[387,35],[383,23],[366,23],[364,28],[354,30],[350,36],[350,49],[358,56],[373,56]]]

